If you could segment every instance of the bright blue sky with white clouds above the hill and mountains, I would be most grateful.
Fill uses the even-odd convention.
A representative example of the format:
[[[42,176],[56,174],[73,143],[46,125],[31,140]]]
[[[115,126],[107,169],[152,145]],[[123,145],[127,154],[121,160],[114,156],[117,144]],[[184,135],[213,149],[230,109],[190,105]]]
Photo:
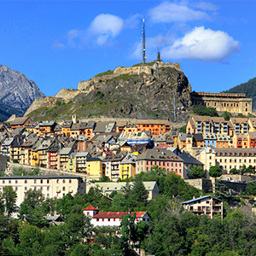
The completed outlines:
[[[179,62],[192,90],[219,92],[253,79],[255,0],[1,1],[0,64],[26,74],[46,96],[77,89],[115,67],[160,48]]]

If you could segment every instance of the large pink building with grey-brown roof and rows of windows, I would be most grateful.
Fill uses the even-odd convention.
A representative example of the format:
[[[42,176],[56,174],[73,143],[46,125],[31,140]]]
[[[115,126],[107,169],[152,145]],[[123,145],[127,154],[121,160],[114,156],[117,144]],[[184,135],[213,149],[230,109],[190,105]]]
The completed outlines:
[[[180,177],[184,177],[183,159],[171,150],[148,149],[137,157],[136,173],[148,172],[153,166],[165,168],[166,172],[175,172]]]

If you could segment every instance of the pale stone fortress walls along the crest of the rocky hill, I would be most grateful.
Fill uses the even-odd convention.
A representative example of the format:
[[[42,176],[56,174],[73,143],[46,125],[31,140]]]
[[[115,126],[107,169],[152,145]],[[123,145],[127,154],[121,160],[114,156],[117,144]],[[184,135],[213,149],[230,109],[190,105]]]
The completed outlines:
[[[154,64],[151,66],[147,66],[147,64],[145,64],[137,67],[116,67],[113,73],[111,72],[109,73],[107,72],[106,74],[103,73],[102,76],[100,77],[96,76],[90,80],[79,82],[78,89],[84,90],[84,92],[89,93],[90,90],[94,90],[94,84],[99,84],[101,82],[105,82],[125,74],[139,75],[141,73],[147,73],[148,75],[152,75],[154,73],[154,70],[157,70],[157,68],[160,68],[160,67],[172,67],[172,68],[175,68],[177,71],[181,71],[179,63],[171,63],[171,62],[163,63],[163,61],[161,60],[154,61]]]

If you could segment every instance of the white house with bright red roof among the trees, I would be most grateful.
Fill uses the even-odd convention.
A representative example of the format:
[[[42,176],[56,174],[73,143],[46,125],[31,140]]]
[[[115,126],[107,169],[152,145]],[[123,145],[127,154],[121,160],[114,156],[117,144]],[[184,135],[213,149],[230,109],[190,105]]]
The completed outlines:
[[[122,217],[128,215],[129,212],[99,212],[95,207],[85,207],[83,209],[86,216],[92,216],[91,224],[94,226],[119,226],[122,221]],[[148,212],[131,212],[131,216],[136,213],[135,222],[145,221],[148,226],[150,224],[150,217]]]

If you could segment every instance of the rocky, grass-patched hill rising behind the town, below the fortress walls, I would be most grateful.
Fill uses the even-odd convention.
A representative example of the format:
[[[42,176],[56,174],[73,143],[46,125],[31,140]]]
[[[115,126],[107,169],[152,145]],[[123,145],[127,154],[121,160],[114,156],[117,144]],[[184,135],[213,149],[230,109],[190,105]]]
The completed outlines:
[[[97,79],[80,82],[80,90],[61,90],[56,96],[36,100],[26,115],[34,120],[70,119],[73,113],[79,118],[173,120],[170,89],[175,93],[176,106],[188,108],[191,86],[184,73],[176,68],[161,67],[159,74],[160,79],[155,70],[116,77],[104,73],[100,78],[96,76]],[[81,83],[86,86],[81,88]],[[184,118],[184,113],[177,114],[177,119]]]

